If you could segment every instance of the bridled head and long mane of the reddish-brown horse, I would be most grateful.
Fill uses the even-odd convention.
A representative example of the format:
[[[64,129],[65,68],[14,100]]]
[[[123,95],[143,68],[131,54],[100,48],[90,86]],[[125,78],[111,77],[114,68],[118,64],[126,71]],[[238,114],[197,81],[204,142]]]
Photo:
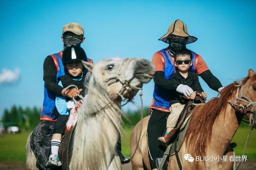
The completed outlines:
[[[226,86],[220,93],[220,97],[193,110],[196,114],[191,116],[186,141],[190,139],[189,146],[194,147],[196,155],[205,155],[205,149],[212,137],[213,124],[229,104],[237,114],[240,113],[239,121],[244,115],[251,117],[250,121],[256,127],[256,73],[252,69],[246,78]]]

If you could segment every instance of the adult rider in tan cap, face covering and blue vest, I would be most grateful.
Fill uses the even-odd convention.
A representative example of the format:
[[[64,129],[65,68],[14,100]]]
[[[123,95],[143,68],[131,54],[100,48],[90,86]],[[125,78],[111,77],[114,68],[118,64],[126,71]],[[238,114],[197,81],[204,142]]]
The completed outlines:
[[[81,46],[81,43],[85,41],[82,25],[78,23],[65,24],[62,41],[64,43],[64,49],[72,45]],[[43,64],[43,108],[41,110],[40,123],[33,130],[30,143],[37,160],[36,166],[39,170],[49,170],[46,168],[46,163],[50,155],[51,138],[55,128],[55,122],[58,118],[58,112],[55,107],[55,97],[65,96],[72,98],[77,97],[82,92],[82,87],[78,84],[75,85],[77,85],[79,89],[71,88],[68,90],[64,90],[63,87],[58,85],[59,78],[64,75],[62,55],[63,51],[48,55]],[[92,60],[88,59],[88,62],[92,62]],[[62,82],[66,84],[66,86],[73,84],[71,78],[62,79]],[[125,158],[121,152],[121,142],[118,143],[117,151],[122,163],[129,162],[129,159]]]

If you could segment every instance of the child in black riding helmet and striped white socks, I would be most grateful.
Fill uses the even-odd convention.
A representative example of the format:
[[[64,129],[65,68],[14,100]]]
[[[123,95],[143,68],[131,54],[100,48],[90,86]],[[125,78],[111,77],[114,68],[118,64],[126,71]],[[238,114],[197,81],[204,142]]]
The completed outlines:
[[[87,61],[87,56],[79,46],[70,46],[63,51],[62,62],[65,68],[65,75],[60,78],[59,85],[64,88],[68,85],[74,84],[78,89],[83,89],[83,80],[87,70],[83,66],[83,61]],[[63,84],[67,76],[72,78],[72,82]],[[70,79],[70,78],[69,78]],[[63,81],[62,81],[63,80]],[[66,97],[56,97],[56,108],[59,112],[58,120],[55,125],[54,134],[51,141],[51,155],[47,162],[47,167],[61,166],[62,163],[59,160],[58,152],[61,144],[62,135],[64,134],[65,125],[68,120],[70,109],[75,108],[73,101],[68,101]]]

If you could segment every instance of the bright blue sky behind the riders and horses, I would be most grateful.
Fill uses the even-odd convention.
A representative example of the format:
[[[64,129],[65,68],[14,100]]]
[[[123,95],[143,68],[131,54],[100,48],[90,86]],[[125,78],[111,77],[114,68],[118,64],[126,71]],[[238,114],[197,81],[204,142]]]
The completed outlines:
[[[151,60],[156,51],[167,47],[158,39],[181,19],[198,38],[187,47],[228,85],[245,77],[248,69],[256,71],[255,9],[254,0],[1,1],[0,115],[14,104],[41,107],[43,61],[63,49],[63,25],[70,22],[84,26],[82,47],[98,62],[115,56]],[[217,96],[200,82],[208,98]],[[144,86],[146,106],[153,89],[153,81]],[[139,105],[138,97],[135,101]]]

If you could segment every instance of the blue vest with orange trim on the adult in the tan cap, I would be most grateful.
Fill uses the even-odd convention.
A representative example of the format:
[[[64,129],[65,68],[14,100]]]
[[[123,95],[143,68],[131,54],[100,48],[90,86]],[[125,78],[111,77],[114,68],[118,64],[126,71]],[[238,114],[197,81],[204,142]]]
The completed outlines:
[[[60,77],[65,75],[64,65],[62,63],[62,54],[63,51],[50,55],[55,63],[57,74],[56,82],[57,84],[60,81]],[[92,59],[87,58],[87,62],[93,63]],[[84,69],[84,75],[88,72],[87,69]],[[44,100],[43,108],[41,110],[40,121],[57,121],[53,111],[55,109],[55,99],[56,96],[50,93],[44,84]]]

